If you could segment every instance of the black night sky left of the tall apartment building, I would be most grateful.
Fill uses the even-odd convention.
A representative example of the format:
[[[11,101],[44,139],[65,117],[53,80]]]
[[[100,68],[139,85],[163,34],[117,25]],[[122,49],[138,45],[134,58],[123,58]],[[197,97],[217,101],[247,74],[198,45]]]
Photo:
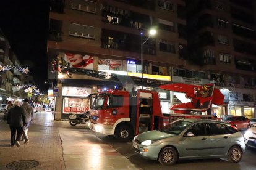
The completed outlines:
[[[49,0],[0,2],[0,27],[40,91],[48,89],[47,33]]]

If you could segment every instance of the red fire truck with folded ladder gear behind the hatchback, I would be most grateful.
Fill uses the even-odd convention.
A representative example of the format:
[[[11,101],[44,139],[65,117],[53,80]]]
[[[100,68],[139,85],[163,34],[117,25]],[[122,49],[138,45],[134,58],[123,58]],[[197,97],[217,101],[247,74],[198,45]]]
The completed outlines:
[[[177,85],[180,86],[182,84]],[[195,87],[197,88],[197,90],[199,87],[203,87],[194,85],[186,86],[187,84],[183,85],[185,87],[189,87],[189,89],[185,90],[185,92],[189,91],[189,93],[186,94],[189,95],[189,97],[191,98],[195,97],[197,94],[193,94],[193,92],[192,94],[190,94],[190,91],[192,91],[190,88],[192,88],[194,91]],[[161,88],[171,91],[179,91],[177,89],[174,89],[179,89],[179,87],[176,87],[174,85],[164,85]],[[173,105],[171,109],[174,110],[174,113],[168,117],[163,116],[163,113],[161,111],[160,97],[158,95],[158,92],[156,91],[148,91],[142,89],[132,92],[120,90],[101,91],[96,94],[90,95],[90,97],[92,97],[92,106],[90,110],[90,121],[88,125],[93,131],[100,132],[108,136],[116,136],[117,139],[121,141],[128,141],[131,140],[134,135],[153,129],[160,129],[165,124],[168,124],[169,121],[171,121],[171,119],[173,118],[212,119],[213,116],[211,115],[189,115],[181,113],[189,113],[187,111],[192,111],[193,109],[196,109],[196,111],[207,110],[208,106],[211,105],[211,102],[215,100],[215,98],[213,97],[213,94],[215,92],[213,91],[215,91],[215,89],[213,86],[211,86],[211,90],[209,91],[211,92],[210,95],[208,94],[208,96],[205,97],[200,96],[199,100],[202,101],[199,101],[199,103],[198,101],[194,101],[195,99],[197,99],[197,97],[195,97],[195,99],[192,99],[191,104],[187,103],[189,107],[186,107],[186,105],[182,105],[183,103],[181,103],[181,112],[179,112],[177,107]],[[216,92],[218,93],[218,89],[216,90]],[[194,106],[193,102],[195,102],[195,105],[199,105],[198,108],[197,106]],[[206,104],[201,105],[202,102],[207,102],[207,107],[205,107]],[[184,106],[186,108],[184,108]],[[186,111],[182,112],[182,110]]]

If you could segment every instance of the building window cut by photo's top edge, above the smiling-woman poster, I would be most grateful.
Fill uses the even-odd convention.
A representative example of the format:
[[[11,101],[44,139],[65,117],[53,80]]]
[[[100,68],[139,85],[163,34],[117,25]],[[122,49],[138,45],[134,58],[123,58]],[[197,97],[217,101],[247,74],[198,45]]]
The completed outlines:
[[[71,8],[96,13],[96,2],[87,0],[72,0]]]

